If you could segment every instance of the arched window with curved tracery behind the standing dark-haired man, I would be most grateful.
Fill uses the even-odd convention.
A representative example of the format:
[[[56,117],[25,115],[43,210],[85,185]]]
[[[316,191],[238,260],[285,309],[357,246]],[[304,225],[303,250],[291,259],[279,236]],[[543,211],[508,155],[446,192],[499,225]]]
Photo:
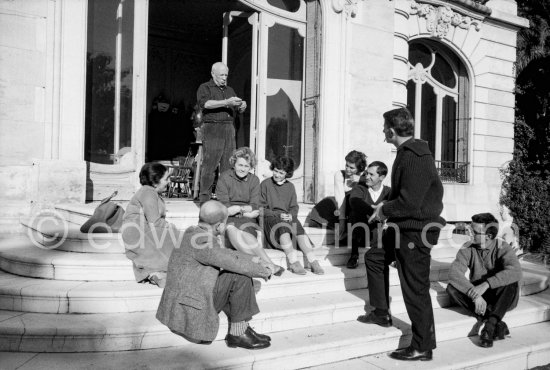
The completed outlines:
[[[468,182],[469,79],[464,64],[430,40],[409,45],[407,104],[415,137],[428,142],[441,179]]]

